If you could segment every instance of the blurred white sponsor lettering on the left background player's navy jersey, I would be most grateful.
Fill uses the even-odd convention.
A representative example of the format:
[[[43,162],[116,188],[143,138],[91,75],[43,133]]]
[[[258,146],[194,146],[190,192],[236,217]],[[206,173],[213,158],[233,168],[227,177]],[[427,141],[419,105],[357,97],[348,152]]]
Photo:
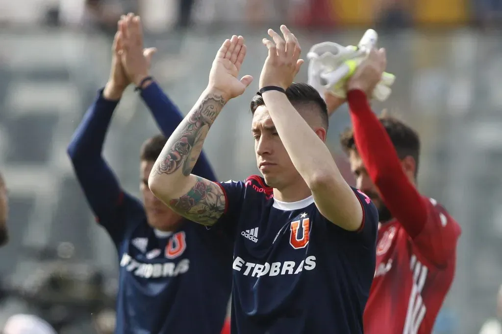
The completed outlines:
[[[190,268],[190,260],[185,258],[178,263],[142,263],[132,258],[131,255],[124,253],[120,259],[120,266],[126,267],[127,271],[133,272],[133,274],[138,277],[174,277],[188,271]]]

